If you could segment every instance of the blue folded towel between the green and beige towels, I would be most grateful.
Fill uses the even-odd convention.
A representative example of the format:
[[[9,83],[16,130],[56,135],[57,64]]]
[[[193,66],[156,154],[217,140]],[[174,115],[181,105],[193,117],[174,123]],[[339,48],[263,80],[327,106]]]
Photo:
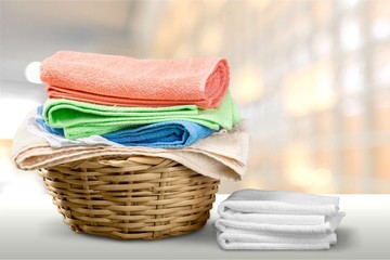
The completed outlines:
[[[52,128],[46,122],[42,117],[43,106],[39,106],[37,110],[38,117],[36,118],[36,121],[44,128],[46,131],[64,135],[64,130],[62,128]],[[216,132],[216,130],[192,121],[176,120],[128,128],[105,133],[102,134],[102,136],[125,146],[181,148],[187,147],[213,132]]]

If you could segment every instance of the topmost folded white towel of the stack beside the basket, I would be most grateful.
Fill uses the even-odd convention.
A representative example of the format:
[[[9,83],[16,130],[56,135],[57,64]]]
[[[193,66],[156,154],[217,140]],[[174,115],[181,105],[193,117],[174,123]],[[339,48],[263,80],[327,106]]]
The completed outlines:
[[[220,216],[225,216],[226,210],[252,213],[334,216],[338,209],[338,197],[248,188],[230,195],[220,204],[218,212]]]

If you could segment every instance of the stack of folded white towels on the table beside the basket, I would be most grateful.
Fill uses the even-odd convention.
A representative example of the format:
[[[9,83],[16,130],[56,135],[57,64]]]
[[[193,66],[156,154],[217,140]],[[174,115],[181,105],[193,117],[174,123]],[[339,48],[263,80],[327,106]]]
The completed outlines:
[[[255,250],[329,249],[344,217],[336,196],[258,190],[233,193],[218,212],[218,244]]]

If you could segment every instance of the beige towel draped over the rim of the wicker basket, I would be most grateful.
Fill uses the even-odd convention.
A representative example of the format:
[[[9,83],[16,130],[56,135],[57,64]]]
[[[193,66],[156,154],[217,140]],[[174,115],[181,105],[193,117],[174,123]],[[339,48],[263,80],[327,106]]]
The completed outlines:
[[[35,112],[27,116],[30,117]],[[52,148],[41,136],[27,130],[27,119],[16,132],[12,160],[22,170],[37,170],[98,156],[143,155],[176,160],[190,169],[217,179],[239,180],[246,172],[249,134],[242,120],[231,131],[222,130],[185,148],[148,148],[116,146],[72,146]]]

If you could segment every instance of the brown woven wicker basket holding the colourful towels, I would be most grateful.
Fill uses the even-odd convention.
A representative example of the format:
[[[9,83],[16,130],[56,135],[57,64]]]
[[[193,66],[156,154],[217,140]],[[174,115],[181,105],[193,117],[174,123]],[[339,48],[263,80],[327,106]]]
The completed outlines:
[[[72,230],[117,239],[202,229],[219,184],[173,160],[142,156],[78,160],[40,174]]]

